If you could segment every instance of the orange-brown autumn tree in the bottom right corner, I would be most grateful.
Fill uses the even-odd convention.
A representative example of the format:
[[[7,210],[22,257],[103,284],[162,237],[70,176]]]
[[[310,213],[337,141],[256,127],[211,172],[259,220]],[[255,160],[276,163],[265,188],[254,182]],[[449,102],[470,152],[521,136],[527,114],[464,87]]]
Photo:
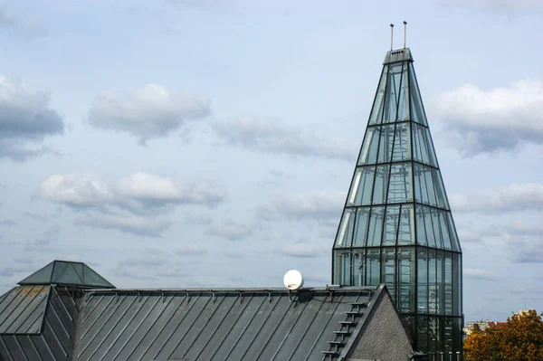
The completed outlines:
[[[541,313],[543,316],[543,313]],[[474,329],[464,341],[466,361],[543,360],[543,320],[535,309],[513,314],[500,327]]]

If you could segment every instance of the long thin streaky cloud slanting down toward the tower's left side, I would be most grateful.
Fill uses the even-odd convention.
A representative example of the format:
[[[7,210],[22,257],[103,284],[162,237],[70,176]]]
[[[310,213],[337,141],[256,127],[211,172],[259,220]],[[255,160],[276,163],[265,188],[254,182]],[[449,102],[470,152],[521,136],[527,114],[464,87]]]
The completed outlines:
[[[320,157],[353,160],[356,147],[344,139],[319,139],[298,128],[290,128],[278,119],[245,117],[214,122],[214,132],[227,144],[264,153],[292,157]]]

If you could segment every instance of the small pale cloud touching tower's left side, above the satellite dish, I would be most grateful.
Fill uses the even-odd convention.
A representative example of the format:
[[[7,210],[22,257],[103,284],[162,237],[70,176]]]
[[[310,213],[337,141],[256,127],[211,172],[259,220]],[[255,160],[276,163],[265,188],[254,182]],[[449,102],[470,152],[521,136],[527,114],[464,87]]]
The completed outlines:
[[[300,195],[279,195],[259,207],[263,219],[275,220],[337,220],[345,204],[344,192],[311,192]]]

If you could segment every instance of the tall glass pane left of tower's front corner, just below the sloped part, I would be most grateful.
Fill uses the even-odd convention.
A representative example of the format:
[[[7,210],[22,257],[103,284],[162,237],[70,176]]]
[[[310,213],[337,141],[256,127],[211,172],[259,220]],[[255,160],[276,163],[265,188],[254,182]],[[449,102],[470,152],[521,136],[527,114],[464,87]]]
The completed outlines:
[[[414,249],[398,251],[397,267],[397,309],[400,312],[414,312]]]

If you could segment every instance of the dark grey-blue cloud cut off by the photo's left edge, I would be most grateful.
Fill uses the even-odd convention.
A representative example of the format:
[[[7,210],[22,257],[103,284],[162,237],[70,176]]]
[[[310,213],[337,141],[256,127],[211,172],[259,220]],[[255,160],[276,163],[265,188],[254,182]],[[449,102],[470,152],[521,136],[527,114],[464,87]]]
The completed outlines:
[[[23,161],[51,152],[41,143],[61,135],[64,122],[50,103],[48,91],[0,75],[0,158]]]

